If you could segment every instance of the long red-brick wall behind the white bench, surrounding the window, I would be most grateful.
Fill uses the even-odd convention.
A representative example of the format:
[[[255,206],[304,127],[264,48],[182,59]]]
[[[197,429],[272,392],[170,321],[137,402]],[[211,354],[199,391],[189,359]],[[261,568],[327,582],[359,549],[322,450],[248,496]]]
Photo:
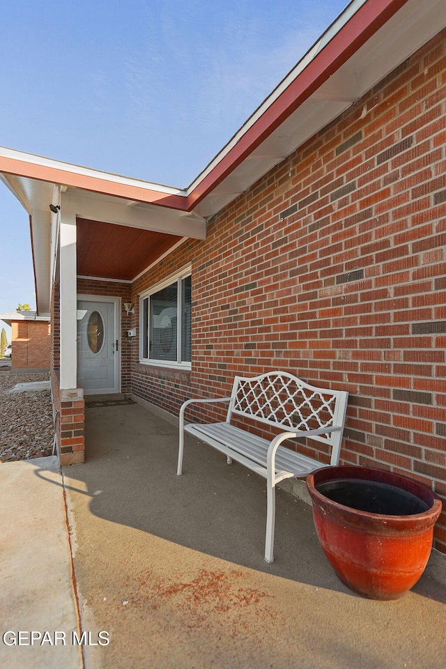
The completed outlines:
[[[192,373],[164,372],[169,410],[289,369],[351,393],[342,462],[446,498],[445,97],[443,31],[135,282],[137,304],[192,261]],[[132,390],[167,408],[132,360]]]

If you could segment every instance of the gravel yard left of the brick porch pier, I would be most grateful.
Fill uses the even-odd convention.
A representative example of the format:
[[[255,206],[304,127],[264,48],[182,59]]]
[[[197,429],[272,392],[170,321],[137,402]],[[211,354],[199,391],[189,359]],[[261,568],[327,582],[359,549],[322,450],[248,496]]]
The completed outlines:
[[[8,390],[17,383],[47,381],[49,374],[0,374],[0,461],[29,460],[52,454],[51,393]]]

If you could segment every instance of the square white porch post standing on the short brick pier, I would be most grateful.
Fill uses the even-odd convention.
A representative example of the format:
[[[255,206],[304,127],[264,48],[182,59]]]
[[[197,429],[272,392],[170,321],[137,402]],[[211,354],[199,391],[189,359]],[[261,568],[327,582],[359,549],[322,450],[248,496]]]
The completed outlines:
[[[77,387],[76,216],[61,210],[60,315],[61,390]]]

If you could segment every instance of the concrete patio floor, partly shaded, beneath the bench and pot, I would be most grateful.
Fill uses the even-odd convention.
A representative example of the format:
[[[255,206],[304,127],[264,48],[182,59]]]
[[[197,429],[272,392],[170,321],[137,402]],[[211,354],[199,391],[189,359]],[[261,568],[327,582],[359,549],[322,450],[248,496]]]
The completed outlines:
[[[362,599],[334,575],[311,507],[278,491],[267,564],[263,479],[193,438],[177,477],[176,426],[137,404],[86,413],[86,463],[63,468],[75,570],[66,597],[92,644],[79,667],[444,668],[442,555],[433,553],[402,599]],[[47,486],[61,496],[55,483],[49,477]],[[20,602],[9,603],[17,611],[6,629],[22,629]],[[108,645],[98,645],[101,631]],[[22,650],[8,648],[8,657]],[[26,651],[23,659],[33,651],[42,663],[16,666],[72,666]]]

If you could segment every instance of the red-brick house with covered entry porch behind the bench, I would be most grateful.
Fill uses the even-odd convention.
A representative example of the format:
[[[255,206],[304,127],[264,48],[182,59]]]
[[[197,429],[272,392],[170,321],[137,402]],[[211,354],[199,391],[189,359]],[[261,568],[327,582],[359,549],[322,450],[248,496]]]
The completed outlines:
[[[84,457],[82,389],[178,415],[234,374],[288,369],[349,391],[342,462],[446,499],[445,26],[436,0],[353,1],[185,191],[0,155],[3,174],[64,185],[60,297],[38,291],[72,399],[63,461]],[[76,293],[98,383],[72,360]],[[446,512],[435,541],[446,553]]]

